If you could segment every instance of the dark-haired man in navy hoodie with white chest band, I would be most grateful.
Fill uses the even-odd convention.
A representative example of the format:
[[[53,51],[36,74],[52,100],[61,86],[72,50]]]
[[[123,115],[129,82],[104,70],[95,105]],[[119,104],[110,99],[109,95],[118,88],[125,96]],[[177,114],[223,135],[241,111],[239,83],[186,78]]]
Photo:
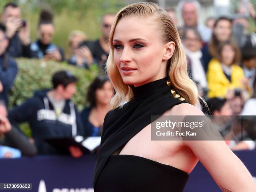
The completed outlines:
[[[67,138],[83,135],[82,121],[70,100],[76,92],[77,78],[68,71],[53,75],[52,90],[40,90],[9,113],[10,120],[28,122],[38,154],[59,154],[46,138]]]

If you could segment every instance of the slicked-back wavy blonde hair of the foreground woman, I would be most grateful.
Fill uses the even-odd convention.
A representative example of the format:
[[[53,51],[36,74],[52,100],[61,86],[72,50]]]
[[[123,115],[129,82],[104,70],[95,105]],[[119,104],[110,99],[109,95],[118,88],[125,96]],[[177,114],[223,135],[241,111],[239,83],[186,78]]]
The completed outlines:
[[[174,41],[176,46],[173,56],[167,61],[166,74],[174,89],[190,104],[195,105],[198,97],[197,87],[188,77],[186,55],[182,48],[179,33],[174,26],[172,19],[169,17],[168,13],[163,8],[160,8],[156,3],[142,2],[133,3],[121,9],[115,16],[115,20],[110,31],[110,53],[106,68],[110,81],[116,91],[114,97],[110,101],[111,108],[115,109],[123,102],[130,101],[133,98],[131,85],[123,82],[113,58],[113,34],[115,32],[115,27],[121,18],[130,16],[154,16],[156,23],[159,24],[159,31],[162,33],[163,41],[165,43]]]

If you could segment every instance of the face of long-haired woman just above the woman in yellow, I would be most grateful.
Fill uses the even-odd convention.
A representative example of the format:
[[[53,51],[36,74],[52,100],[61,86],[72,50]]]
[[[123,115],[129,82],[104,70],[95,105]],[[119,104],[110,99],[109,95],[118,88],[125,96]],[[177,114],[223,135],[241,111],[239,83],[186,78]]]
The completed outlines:
[[[232,25],[228,20],[220,20],[213,29],[213,33],[218,41],[227,41],[231,37]]]

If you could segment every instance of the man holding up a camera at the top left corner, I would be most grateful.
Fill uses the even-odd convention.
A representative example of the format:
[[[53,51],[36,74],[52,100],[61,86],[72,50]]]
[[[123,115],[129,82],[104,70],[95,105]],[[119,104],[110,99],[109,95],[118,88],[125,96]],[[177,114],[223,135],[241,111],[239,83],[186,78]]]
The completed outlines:
[[[9,39],[8,53],[12,57],[28,56],[30,44],[29,23],[21,19],[21,10],[15,3],[7,3],[3,8],[2,25]]]

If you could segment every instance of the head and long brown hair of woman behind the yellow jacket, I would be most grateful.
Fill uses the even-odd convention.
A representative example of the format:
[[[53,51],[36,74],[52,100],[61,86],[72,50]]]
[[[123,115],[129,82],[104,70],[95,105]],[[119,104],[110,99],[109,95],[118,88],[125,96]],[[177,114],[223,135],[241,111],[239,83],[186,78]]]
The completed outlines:
[[[207,72],[208,64],[212,57],[216,57],[217,48],[221,42],[230,40],[232,37],[232,20],[228,17],[218,18],[212,29],[212,38],[208,44],[202,48],[202,60],[205,64],[205,72]]]

